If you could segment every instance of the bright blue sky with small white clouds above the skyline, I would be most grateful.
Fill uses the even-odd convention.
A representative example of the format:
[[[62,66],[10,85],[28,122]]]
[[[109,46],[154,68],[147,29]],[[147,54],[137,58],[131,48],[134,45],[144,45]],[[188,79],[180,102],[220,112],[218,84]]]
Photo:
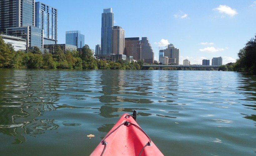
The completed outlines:
[[[37,2],[37,1],[36,1]],[[126,37],[148,37],[158,60],[159,47],[174,44],[180,64],[202,64],[221,56],[235,62],[237,53],[256,35],[255,0],[40,0],[58,9],[58,43],[65,32],[80,30],[91,49],[101,44],[101,13],[112,7],[114,25]]]

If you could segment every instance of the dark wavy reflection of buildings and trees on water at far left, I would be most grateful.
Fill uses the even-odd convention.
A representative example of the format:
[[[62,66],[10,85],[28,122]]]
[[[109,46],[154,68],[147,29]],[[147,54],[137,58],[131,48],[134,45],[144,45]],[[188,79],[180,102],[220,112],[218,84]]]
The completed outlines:
[[[0,77],[0,132],[13,136],[13,144],[26,142],[25,135],[36,136],[59,127],[54,119],[37,119],[45,111],[56,110],[53,104],[57,102],[58,94],[47,94],[44,80],[34,80],[31,72],[15,70],[13,75]],[[38,88],[34,83],[40,82]]]

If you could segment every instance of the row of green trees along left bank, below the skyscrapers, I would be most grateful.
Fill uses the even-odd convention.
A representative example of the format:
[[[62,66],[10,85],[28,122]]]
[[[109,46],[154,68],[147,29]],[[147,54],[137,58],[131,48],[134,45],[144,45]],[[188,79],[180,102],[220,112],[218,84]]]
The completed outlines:
[[[64,53],[60,46],[51,54],[42,54],[38,47],[32,51],[14,51],[11,44],[6,44],[0,37],[0,68],[29,68],[29,69],[132,69],[139,70],[143,61],[116,62],[98,60],[93,57],[88,45],[83,46],[81,52],[67,51]]]

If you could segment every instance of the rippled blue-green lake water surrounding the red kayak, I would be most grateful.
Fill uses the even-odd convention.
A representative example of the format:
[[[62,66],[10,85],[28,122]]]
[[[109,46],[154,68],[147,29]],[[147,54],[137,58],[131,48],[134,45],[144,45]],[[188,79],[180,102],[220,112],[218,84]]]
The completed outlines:
[[[0,155],[89,155],[133,110],[164,155],[256,155],[255,76],[14,69],[0,69]]]

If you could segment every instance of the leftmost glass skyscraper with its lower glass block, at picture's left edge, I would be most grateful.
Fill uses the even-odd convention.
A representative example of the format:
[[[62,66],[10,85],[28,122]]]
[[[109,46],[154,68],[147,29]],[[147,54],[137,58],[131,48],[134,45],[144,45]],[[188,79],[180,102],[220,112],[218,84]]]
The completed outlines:
[[[27,40],[27,48],[43,48],[43,30],[35,26],[34,0],[1,0],[0,31]]]

